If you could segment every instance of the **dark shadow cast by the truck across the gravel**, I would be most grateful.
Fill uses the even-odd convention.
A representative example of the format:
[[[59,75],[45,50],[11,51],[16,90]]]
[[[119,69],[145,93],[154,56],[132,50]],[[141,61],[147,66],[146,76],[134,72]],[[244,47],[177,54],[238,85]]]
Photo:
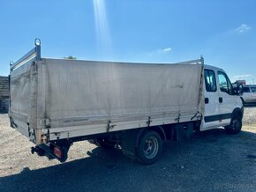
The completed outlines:
[[[85,159],[37,170],[26,167],[2,177],[0,191],[207,191],[232,189],[236,182],[243,187],[238,190],[253,191],[256,183],[246,175],[256,171],[255,136],[246,131],[228,136],[223,129],[196,133],[190,140],[165,144],[162,158],[151,166],[96,147]]]

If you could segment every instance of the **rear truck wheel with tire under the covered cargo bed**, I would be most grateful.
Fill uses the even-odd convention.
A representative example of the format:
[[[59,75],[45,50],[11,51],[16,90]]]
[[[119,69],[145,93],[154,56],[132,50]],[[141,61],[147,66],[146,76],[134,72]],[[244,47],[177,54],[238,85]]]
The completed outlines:
[[[144,132],[139,138],[136,156],[139,163],[154,164],[162,153],[162,138],[154,130]]]

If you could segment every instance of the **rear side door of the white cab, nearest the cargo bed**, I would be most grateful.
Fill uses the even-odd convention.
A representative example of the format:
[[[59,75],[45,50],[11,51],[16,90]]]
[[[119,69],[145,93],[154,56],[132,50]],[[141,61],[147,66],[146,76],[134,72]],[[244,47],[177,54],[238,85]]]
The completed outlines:
[[[220,102],[217,89],[216,71],[205,69],[205,113],[200,130],[222,126],[220,122]]]

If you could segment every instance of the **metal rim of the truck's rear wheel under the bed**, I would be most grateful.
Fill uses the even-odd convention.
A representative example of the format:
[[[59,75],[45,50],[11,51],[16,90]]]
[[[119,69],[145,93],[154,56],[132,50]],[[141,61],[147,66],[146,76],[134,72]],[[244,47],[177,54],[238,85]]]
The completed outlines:
[[[144,155],[147,159],[153,159],[159,149],[159,144],[157,138],[155,137],[148,137],[144,143],[143,151]]]

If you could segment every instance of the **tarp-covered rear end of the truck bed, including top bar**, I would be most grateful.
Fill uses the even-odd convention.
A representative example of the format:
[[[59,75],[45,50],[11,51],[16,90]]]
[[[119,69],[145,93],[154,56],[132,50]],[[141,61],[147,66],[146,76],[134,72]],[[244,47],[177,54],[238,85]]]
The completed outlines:
[[[10,110],[11,127],[36,143],[36,87],[40,45],[11,65]]]

